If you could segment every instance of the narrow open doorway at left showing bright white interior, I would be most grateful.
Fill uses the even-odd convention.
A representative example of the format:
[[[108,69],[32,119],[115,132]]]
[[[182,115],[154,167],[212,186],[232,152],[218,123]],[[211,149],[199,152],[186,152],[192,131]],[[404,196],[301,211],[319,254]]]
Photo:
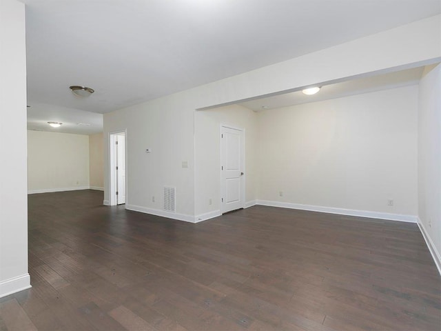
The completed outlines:
[[[126,201],[127,174],[125,131],[110,134],[110,205],[122,205]]]

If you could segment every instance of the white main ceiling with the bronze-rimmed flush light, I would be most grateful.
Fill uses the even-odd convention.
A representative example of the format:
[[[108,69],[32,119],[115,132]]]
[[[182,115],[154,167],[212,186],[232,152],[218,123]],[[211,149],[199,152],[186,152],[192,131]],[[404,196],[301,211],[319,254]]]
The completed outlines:
[[[22,1],[28,104],[101,114],[441,12],[440,0]]]

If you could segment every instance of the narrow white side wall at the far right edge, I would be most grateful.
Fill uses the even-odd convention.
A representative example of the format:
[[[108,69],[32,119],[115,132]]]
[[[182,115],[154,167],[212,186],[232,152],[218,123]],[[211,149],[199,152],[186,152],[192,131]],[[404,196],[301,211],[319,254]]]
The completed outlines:
[[[420,81],[418,216],[441,273],[441,65]]]

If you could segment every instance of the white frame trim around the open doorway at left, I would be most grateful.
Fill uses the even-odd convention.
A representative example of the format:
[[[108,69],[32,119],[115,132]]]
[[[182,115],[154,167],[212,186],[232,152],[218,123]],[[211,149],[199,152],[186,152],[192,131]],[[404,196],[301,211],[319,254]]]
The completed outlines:
[[[116,186],[118,177],[116,174],[116,161],[115,161],[115,141],[116,136],[125,135],[125,205],[127,205],[127,129],[109,132],[109,205],[118,205],[118,199],[116,199]]]

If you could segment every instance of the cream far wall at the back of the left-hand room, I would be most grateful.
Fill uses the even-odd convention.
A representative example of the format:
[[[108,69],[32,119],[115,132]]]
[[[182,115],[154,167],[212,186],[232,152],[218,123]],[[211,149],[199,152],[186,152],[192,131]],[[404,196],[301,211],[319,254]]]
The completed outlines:
[[[28,130],[28,192],[89,188],[89,136]]]

